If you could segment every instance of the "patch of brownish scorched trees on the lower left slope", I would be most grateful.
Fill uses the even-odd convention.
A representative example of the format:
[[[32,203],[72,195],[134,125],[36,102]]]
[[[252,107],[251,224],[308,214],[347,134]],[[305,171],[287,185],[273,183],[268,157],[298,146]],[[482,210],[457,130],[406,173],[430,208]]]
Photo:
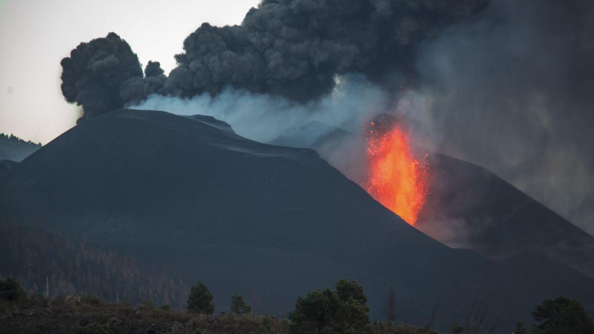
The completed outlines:
[[[21,225],[25,225],[24,223]],[[137,304],[151,299],[185,308],[188,288],[164,267],[106,250],[87,241],[0,223],[0,279],[13,277],[27,294],[93,295]]]

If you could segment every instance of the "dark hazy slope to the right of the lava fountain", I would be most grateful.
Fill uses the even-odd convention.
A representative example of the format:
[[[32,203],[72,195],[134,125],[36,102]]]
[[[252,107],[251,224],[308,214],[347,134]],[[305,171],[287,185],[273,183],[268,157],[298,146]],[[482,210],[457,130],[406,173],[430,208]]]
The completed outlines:
[[[437,173],[416,227],[492,258],[544,254],[594,277],[594,237],[486,169],[432,154]]]

